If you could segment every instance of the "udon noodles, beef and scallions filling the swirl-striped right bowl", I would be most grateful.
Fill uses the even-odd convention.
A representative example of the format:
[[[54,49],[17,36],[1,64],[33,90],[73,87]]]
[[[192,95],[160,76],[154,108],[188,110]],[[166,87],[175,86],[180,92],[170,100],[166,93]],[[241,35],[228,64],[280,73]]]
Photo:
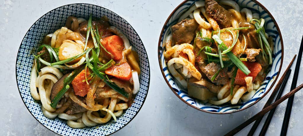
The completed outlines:
[[[264,24],[234,1],[197,1],[165,39],[168,70],[191,97],[213,105],[248,101],[273,62]]]

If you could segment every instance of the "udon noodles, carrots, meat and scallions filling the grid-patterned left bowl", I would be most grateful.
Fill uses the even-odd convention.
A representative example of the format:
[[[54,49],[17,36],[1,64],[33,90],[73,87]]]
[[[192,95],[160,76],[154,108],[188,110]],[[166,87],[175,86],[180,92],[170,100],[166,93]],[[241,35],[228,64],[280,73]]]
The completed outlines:
[[[105,16],[69,16],[34,57],[33,99],[42,103],[45,117],[66,119],[72,128],[116,120],[140,89],[138,55]]]

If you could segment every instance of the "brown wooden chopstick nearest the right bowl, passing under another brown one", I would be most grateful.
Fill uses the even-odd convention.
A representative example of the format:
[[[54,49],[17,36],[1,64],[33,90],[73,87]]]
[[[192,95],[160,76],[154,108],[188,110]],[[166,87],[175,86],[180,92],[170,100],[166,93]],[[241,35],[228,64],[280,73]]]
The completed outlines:
[[[281,76],[281,79],[278,81],[275,89],[272,91],[271,95],[269,96],[267,102],[265,103],[265,105],[263,106],[263,109],[266,108],[268,105],[271,104],[271,102],[274,100],[277,92],[278,92],[278,89],[280,88],[280,85],[281,83],[283,82],[283,80],[285,79],[285,76],[286,76],[286,73],[287,71],[289,70],[289,68],[291,67],[292,63],[294,62],[295,58],[296,58],[297,55],[295,55],[291,62],[289,63],[289,65],[287,66],[287,68],[285,69],[285,72],[283,73],[283,75]],[[248,132],[248,136],[252,136],[254,135],[256,129],[258,128],[261,120],[262,120],[263,117],[259,118],[258,120],[255,121],[254,125],[251,127],[250,131]]]

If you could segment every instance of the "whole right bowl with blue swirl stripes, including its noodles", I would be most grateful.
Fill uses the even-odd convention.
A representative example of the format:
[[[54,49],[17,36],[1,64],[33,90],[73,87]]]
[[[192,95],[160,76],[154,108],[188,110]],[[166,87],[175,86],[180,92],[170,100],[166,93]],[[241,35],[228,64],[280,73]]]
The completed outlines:
[[[283,42],[275,19],[255,0],[185,0],[164,24],[158,59],[179,99],[228,114],[269,92],[281,70]]]

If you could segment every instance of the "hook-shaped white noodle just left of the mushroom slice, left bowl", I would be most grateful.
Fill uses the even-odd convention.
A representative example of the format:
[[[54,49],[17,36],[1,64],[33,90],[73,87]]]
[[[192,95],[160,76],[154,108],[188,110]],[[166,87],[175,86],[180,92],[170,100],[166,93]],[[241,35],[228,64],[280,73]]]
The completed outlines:
[[[50,84],[53,85],[54,83],[56,83],[58,81],[58,78],[52,74],[45,74],[40,77],[39,83],[38,83],[40,99],[41,99],[41,103],[42,103],[43,107],[50,112],[55,112],[56,109],[52,108],[50,106],[50,104],[51,104],[50,92],[51,92],[52,86],[50,86],[50,87],[44,86],[46,79],[52,80]]]

